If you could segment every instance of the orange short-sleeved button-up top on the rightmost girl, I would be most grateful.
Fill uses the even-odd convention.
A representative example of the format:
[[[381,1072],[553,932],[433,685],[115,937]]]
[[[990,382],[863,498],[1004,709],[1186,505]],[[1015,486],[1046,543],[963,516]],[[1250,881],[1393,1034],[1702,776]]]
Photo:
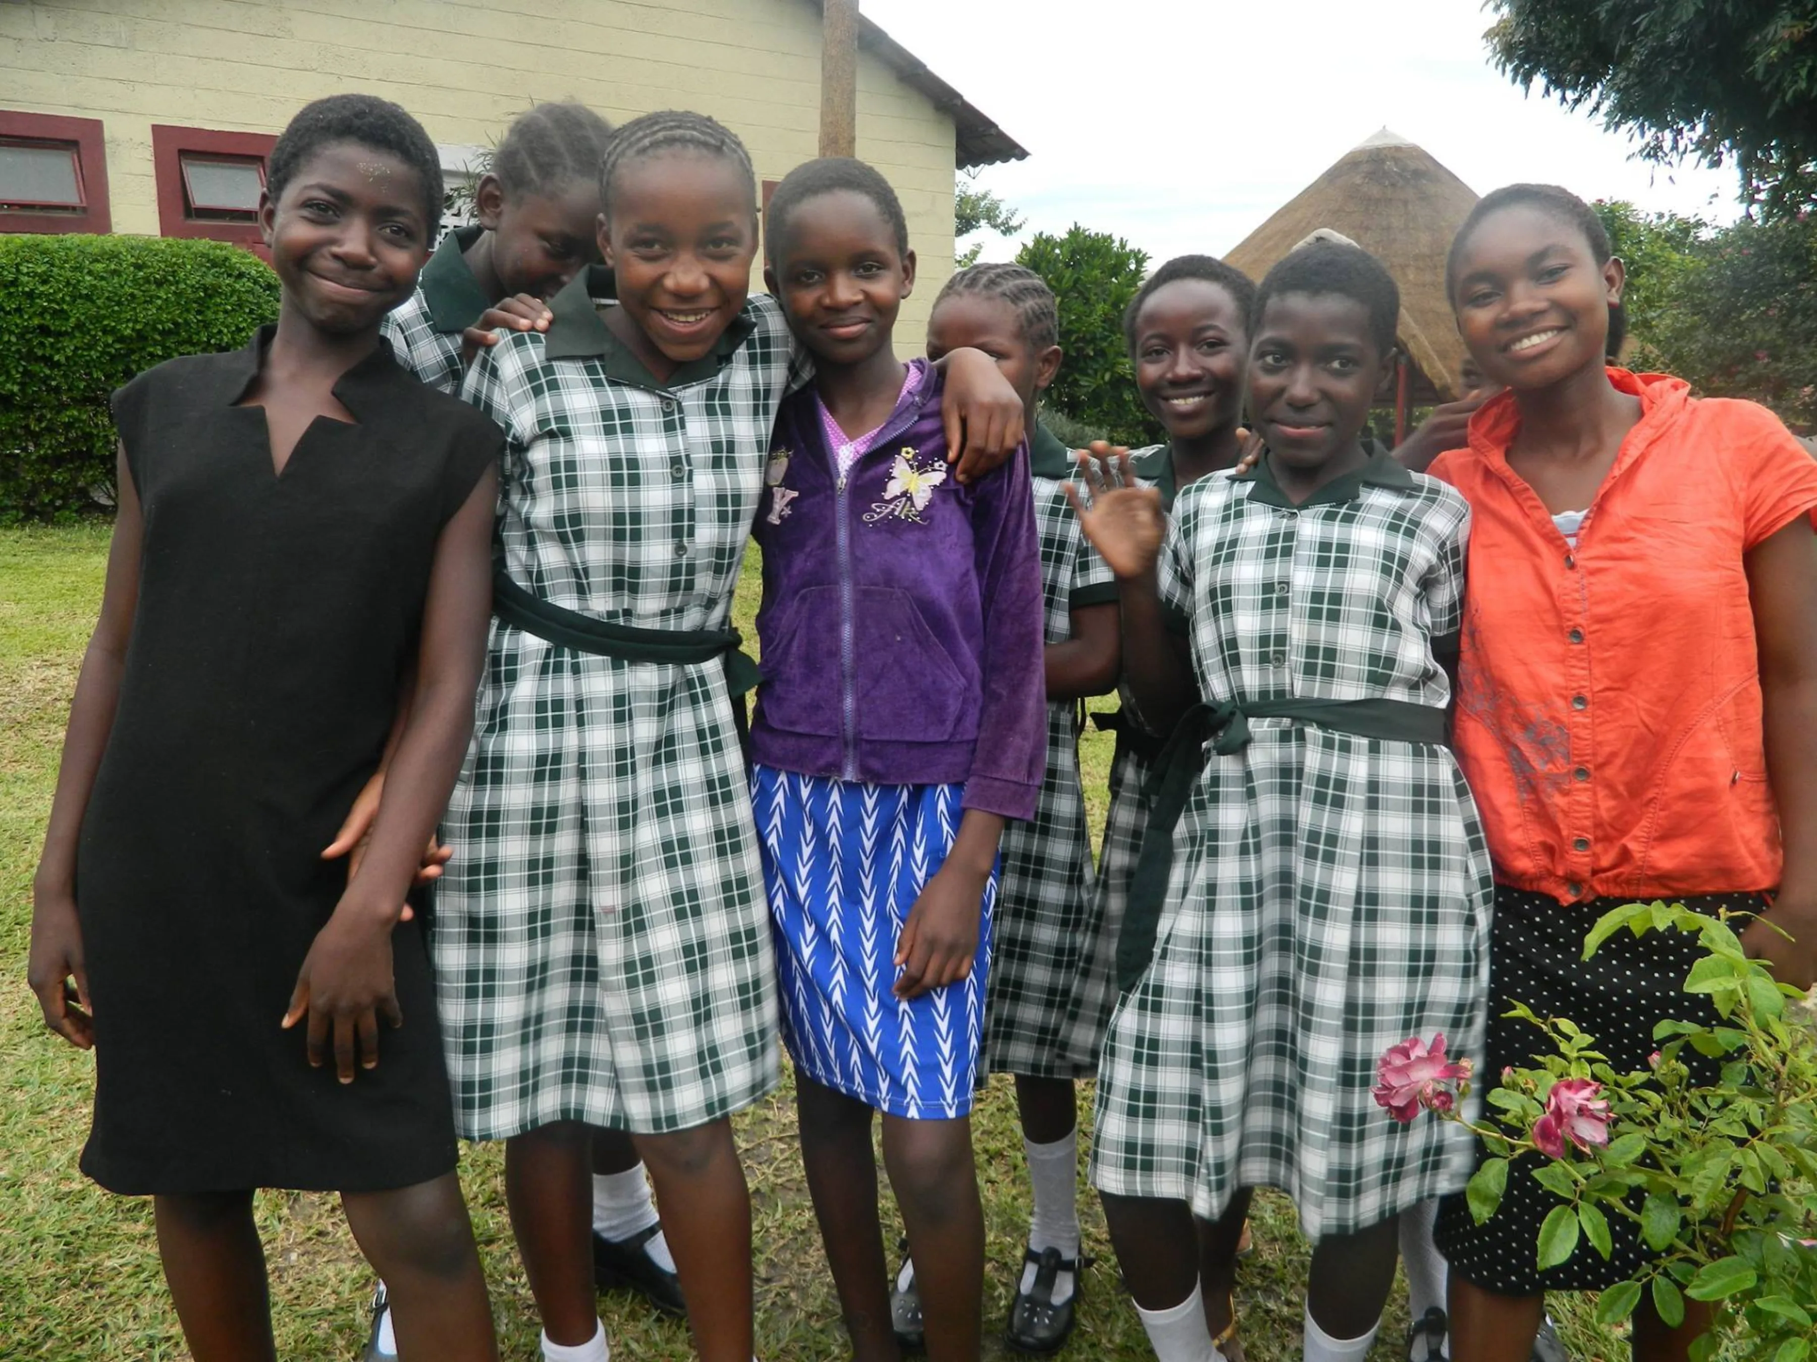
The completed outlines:
[[[1641,421],[1575,548],[1508,467],[1512,394],[1432,465],[1472,510],[1457,761],[1504,884],[1561,903],[1770,890],[1782,850],[1743,556],[1817,508],[1817,461],[1764,407],[1610,380]]]

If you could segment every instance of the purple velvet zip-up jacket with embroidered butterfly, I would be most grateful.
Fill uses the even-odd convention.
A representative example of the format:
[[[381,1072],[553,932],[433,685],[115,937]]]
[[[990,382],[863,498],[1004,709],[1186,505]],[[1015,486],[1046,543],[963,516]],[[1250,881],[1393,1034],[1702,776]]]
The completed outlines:
[[[965,808],[1027,819],[1047,768],[1028,449],[961,485],[941,376],[921,380],[843,485],[814,390],[776,418],[750,754],[805,775],[963,785]]]

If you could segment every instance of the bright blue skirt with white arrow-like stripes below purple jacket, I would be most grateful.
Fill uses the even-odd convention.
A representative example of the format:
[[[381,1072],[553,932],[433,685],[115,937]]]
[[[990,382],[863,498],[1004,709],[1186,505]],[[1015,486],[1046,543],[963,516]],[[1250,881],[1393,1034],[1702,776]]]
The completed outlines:
[[[990,968],[992,872],[972,973],[890,993],[896,941],[959,832],[963,786],[863,785],[754,766],[783,1042],[799,1073],[914,1120],[968,1115]]]

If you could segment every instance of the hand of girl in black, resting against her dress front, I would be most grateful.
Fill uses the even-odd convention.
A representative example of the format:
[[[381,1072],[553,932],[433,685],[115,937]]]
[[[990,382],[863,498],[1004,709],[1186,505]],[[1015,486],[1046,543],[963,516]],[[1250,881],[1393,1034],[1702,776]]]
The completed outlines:
[[[334,1073],[342,1082],[352,1082],[356,1055],[360,1068],[378,1066],[380,1017],[394,1028],[403,1026],[391,973],[391,928],[396,921],[396,913],[342,899],[296,973],[283,1030],[307,1017],[309,1064],[322,1068],[333,1048]]]

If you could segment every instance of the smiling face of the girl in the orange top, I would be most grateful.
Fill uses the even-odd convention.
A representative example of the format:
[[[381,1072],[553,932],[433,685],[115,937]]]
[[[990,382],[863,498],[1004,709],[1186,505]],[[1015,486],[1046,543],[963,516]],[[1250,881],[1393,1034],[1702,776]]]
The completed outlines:
[[[1483,376],[1534,390],[1603,369],[1623,265],[1601,265],[1581,231],[1530,203],[1479,222],[1457,258],[1452,307]]]

